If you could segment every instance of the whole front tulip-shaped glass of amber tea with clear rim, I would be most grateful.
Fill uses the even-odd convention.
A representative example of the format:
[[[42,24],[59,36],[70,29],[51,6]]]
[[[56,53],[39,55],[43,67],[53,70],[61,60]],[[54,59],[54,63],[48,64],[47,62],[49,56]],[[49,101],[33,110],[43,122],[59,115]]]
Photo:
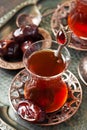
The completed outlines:
[[[23,63],[30,79],[24,86],[24,98],[31,100],[46,113],[59,110],[68,97],[68,87],[62,74],[70,62],[70,53],[66,47],[56,56],[58,43],[41,40],[33,43],[25,52]]]

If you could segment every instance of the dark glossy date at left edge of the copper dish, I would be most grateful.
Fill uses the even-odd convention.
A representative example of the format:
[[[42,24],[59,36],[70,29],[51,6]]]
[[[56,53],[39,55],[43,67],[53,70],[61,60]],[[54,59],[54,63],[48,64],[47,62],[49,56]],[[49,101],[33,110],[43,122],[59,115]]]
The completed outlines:
[[[20,46],[14,40],[1,40],[0,41],[0,56],[9,58],[19,58],[22,57],[22,51]]]

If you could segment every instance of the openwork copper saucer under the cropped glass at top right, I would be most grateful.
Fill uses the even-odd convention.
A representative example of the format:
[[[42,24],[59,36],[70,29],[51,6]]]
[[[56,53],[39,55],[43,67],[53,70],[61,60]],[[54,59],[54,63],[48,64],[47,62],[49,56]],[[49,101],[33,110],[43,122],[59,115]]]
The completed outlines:
[[[59,24],[61,23],[65,28],[68,27],[67,17],[70,12],[71,6],[74,6],[76,0],[70,0],[64,2],[63,4],[57,5],[55,9],[52,19],[51,19],[51,28],[54,33],[56,34],[56,30],[59,29]],[[70,48],[87,51],[87,40],[82,40],[77,38],[77,36],[72,32],[71,42],[69,44]]]

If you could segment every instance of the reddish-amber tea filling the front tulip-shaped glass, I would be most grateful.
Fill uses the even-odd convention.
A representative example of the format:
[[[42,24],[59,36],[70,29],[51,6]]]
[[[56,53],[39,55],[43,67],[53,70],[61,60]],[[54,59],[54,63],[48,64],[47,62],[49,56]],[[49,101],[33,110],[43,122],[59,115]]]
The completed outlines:
[[[25,98],[45,109],[47,113],[60,109],[68,96],[67,85],[59,76],[65,67],[66,62],[62,55],[56,57],[55,51],[51,49],[32,53],[28,58],[28,69],[34,75],[25,85]]]

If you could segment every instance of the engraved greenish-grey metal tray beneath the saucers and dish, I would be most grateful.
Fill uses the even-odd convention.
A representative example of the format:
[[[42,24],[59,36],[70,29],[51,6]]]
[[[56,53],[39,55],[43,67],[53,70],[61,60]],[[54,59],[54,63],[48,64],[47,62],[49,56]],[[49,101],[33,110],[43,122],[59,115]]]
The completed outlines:
[[[8,0],[8,1],[11,1],[11,0]],[[8,1],[6,2],[8,3]],[[18,1],[21,1],[21,0],[18,0]],[[21,12],[29,12],[29,10],[33,6],[33,2],[35,3],[35,1],[37,2],[37,6],[40,9],[40,12],[42,14],[46,13],[46,15],[44,15],[44,17],[42,18],[40,27],[46,29],[51,34],[52,38],[55,39],[51,30],[50,20],[51,20],[52,13],[57,8],[58,3],[61,4],[61,0],[54,0],[54,1],[53,0],[28,0],[27,6],[21,11],[19,11],[16,15],[14,15],[12,19],[8,21],[0,29],[0,39],[3,36],[8,35],[9,32],[13,31],[16,28],[15,26],[16,16]],[[62,1],[62,2],[65,3],[65,1]],[[23,3],[21,2],[20,4],[23,5]],[[8,6],[8,4],[6,6]],[[18,7],[19,6],[20,5],[18,5]],[[81,84],[80,87],[82,87],[82,90],[83,90],[82,103],[81,105],[79,103],[80,106],[79,106],[78,111],[77,112],[74,111],[75,114],[73,114],[73,116],[69,118],[68,120],[62,123],[59,123],[58,125],[56,124],[56,125],[48,126],[48,127],[47,126],[43,127],[41,125],[39,126],[33,125],[31,123],[28,123],[28,126],[27,126],[26,122],[24,121],[19,122],[17,120],[17,117],[8,99],[9,87],[15,75],[19,73],[19,70],[7,70],[0,67],[0,130],[76,130],[76,129],[86,130],[87,129],[87,87],[80,81],[79,76],[77,74],[78,62],[80,58],[87,55],[87,53],[85,51],[84,52],[76,51],[70,47],[68,49],[71,53],[71,59],[72,59],[69,70],[70,72],[73,72],[76,82],[78,79],[78,83],[80,82]]]

